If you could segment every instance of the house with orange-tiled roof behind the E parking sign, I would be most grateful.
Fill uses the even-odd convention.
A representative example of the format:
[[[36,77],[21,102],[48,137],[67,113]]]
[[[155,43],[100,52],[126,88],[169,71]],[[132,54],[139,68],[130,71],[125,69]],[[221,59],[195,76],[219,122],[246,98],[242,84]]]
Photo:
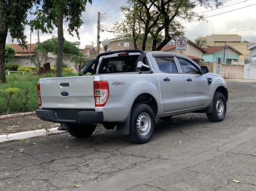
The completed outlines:
[[[203,53],[206,53],[202,47],[191,40],[187,40],[187,49],[185,51],[176,50],[176,45],[165,45],[161,51],[183,53],[195,62],[203,61]]]

